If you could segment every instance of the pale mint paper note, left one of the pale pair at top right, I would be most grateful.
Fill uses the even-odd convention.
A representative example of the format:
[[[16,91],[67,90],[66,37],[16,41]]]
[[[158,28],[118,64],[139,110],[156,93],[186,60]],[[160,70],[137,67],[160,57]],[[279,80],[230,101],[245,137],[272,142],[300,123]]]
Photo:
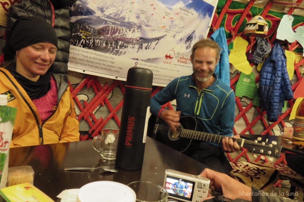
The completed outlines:
[[[291,15],[284,15],[277,31],[277,39],[284,41],[285,39],[292,43],[295,41],[295,32],[292,30],[293,17]]]

